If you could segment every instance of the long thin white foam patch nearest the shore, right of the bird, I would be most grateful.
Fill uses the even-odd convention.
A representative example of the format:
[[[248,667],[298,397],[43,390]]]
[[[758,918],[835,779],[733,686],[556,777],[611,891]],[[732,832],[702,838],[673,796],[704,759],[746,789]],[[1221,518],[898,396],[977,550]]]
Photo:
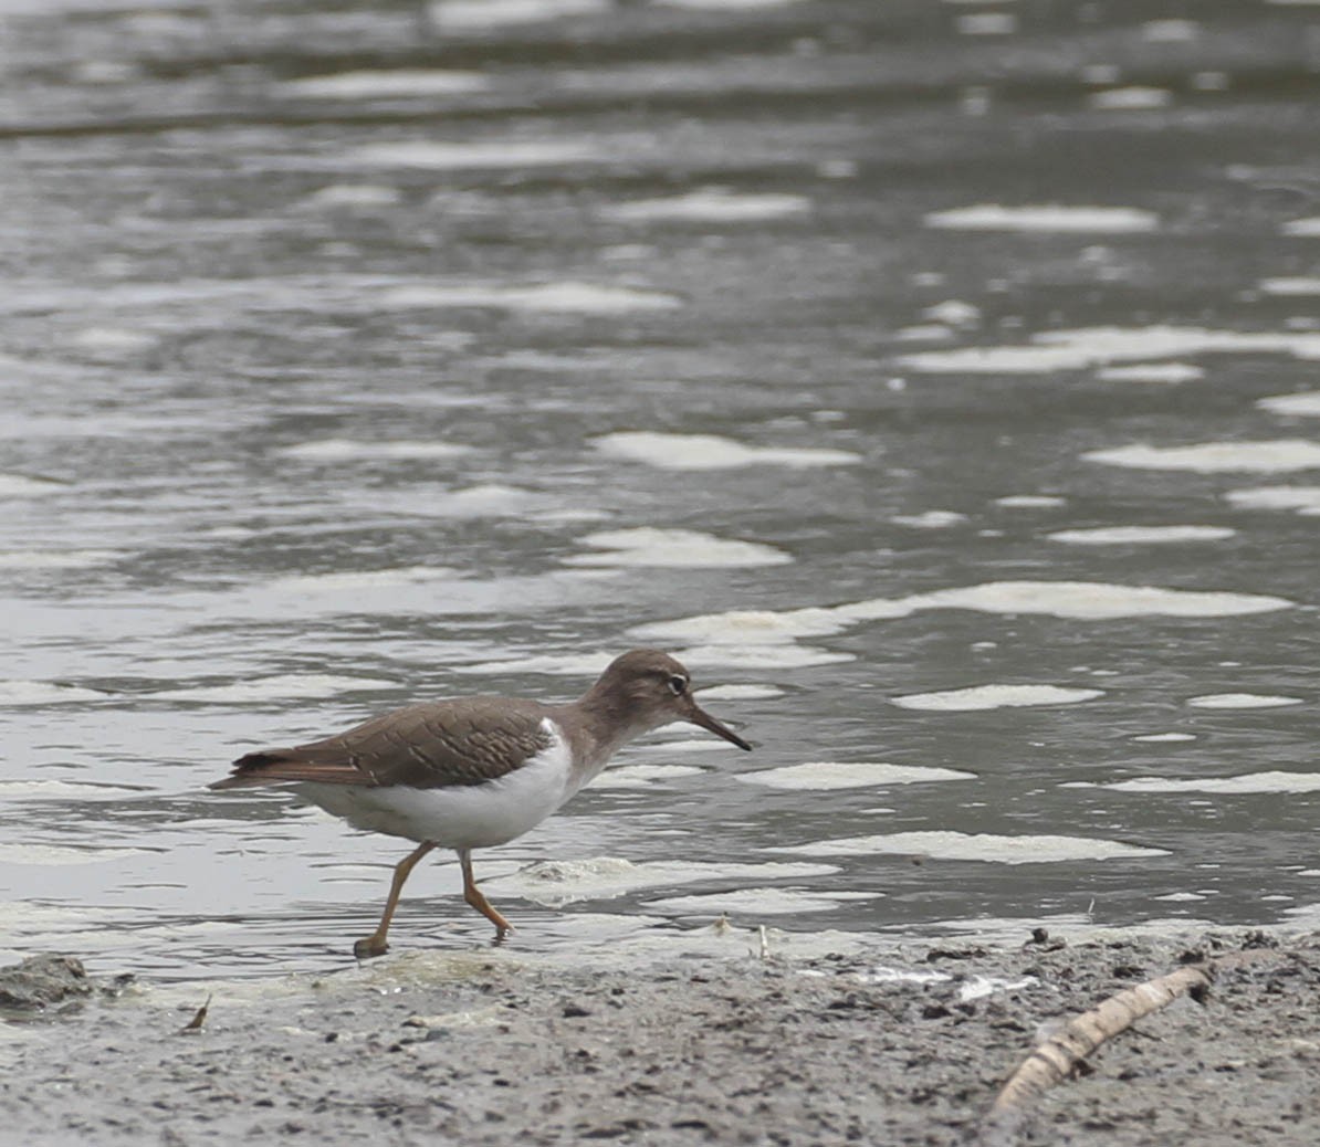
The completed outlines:
[[[891,833],[843,837],[775,847],[804,857],[923,855],[940,861],[987,861],[998,865],[1047,865],[1065,861],[1110,861],[1119,857],[1167,857],[1166,849],[1088,837],[1005,837],[993,833]]]

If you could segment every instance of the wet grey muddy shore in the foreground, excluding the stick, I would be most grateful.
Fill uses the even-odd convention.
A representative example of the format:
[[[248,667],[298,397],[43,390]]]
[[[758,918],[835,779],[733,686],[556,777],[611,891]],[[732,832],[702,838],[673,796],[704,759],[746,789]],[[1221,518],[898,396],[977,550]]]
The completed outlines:
[[[511,945],[136,983],[7,1024],[0,1113],[30,1144],[970,1143],[1039,1033],[1188,960],[1255,948],[1203,1002],[1101,1048],[1015,1142],[1320,1142],[1320,934],[780,954],[793,945],[771,934],[763,953],[726,925],[642,966]],[[202,1028],[182,1032],[207,997]]]

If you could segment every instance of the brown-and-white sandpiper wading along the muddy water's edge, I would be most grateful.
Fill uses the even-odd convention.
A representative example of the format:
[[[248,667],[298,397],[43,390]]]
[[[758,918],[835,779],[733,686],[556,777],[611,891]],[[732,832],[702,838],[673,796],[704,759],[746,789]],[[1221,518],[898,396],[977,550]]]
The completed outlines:
[[[513,697],[412,705],[312,744],[249,752],[210,787],[290,784],[354,828],[418,842],[395,868],[376,931],[354,944],[359,958],[388,950],[404,882],[437,847],[458,853],[463,899],[500,940],[512,925],[478,890],[473,849],[520,837],[597,776],[620,746],[673,721],[751,748],[697,705],[692,678],[673,657],[634,649],[570,705]]]

